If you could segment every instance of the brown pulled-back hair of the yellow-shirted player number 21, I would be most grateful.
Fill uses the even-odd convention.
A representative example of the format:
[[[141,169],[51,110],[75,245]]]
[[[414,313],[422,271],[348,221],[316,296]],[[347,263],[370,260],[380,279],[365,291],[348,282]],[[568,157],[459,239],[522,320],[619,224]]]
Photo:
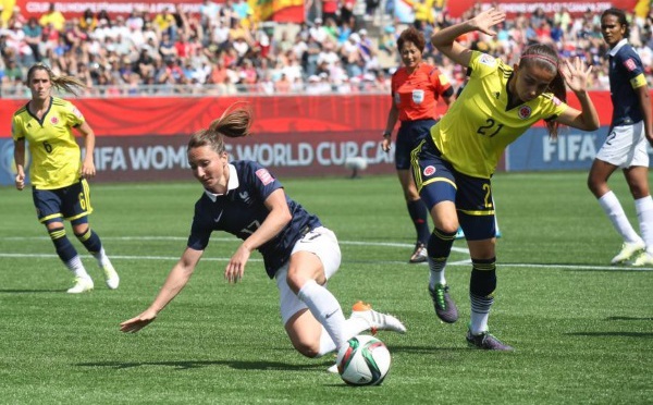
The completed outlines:
[[[560,101],[567,102],[567,85],[559,69],[559,58],[557,52],[547,45],[537,44],[526,48],[519,59],[519,68],[530,64],[537,64],[540,68],[555,72],[555,77],[549,84],[547,93],[552,93]],[[557,137],[559,123],[554,120],[546,121],[549,135],[552,138]]]

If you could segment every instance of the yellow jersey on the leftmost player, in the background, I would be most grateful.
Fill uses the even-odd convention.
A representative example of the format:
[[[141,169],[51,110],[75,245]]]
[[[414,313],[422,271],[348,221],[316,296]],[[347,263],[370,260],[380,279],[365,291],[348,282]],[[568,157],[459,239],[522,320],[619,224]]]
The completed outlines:
[[[84,115],[72,102],[52,97],[50,108],[39,120],[27,108],[14,112],[11,135],[26,139],[32,163],[29,180],[39,189],[66,187],[79,181],[82,152],[72,128],[84,123]]]

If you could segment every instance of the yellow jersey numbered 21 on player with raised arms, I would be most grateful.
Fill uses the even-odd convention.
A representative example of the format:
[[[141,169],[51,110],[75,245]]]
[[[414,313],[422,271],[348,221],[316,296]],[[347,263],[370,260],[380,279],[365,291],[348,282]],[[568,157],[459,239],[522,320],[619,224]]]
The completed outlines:
[[[456,171],[490,179],[505,148],[539,120],[552,120],[567,105],[544,93],[508,109],[513,68],[486,53],[472,51],[469,81],[431,136],[443,159]]]

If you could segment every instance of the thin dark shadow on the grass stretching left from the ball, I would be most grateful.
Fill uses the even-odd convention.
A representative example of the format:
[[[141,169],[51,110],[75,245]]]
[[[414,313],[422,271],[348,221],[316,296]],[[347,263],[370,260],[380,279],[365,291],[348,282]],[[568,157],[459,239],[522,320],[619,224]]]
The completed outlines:
[[[180,361],[98,361],[98,363],[77,363],[78,367],[106,367],[113,369],[128,369],[137,367],[160,366],[171,367],[177,370],[188,370],[210,366],[227,366],[236,370],[325,370],[333,363],[313,364],[313,365],[293,365],[278,361],[237,361],[237,360],[180,360]]]

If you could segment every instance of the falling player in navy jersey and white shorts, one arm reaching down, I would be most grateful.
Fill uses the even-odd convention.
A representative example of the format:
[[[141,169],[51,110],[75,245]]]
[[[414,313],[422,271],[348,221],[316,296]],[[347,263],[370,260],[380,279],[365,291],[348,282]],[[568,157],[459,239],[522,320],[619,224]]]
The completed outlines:
[[[304,356],[334,352],[366,330],[404,333],[399,320],[370,306],[355,306],[345,319],[324,286],[341,262],[334,233],[288,198],[266,168],[255,161],[229,162],[224,137],[247,136],[250,124],[249,109],[232,107],[192,136],[188,163],[204,193],[195,205],[187,247],[150,307],[122,322],[121,330],[137,332],[153,321],[190,279],[211,233],[225,231],[243,243],[226,265],[224,278],[239,282],[251,251],[259,250],[268,275],[276,281],[286,333]]]

